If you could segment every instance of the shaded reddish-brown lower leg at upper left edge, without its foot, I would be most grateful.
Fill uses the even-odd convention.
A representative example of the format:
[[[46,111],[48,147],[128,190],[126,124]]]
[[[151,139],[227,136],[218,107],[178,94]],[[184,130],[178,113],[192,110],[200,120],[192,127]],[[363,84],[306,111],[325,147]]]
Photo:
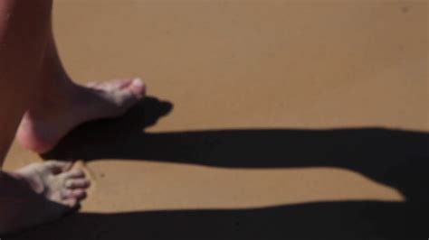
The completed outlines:
[[[49,1],[0,1],[0,166],[37,87],[51,7]]]

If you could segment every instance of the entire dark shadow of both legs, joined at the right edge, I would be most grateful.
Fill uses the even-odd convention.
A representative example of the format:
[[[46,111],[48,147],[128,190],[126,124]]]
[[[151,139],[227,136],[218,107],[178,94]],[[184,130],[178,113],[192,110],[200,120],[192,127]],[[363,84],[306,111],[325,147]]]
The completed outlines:
[[[45,159],[129,159],[222,168],[338,167],[399,190],[405,202],[338,201],[234,210],[75,214],[40,239],[426,239],[429,134],[386,128],[241,129],[148,134],[172,105],[148,97],[116,120],[81,125]],[[37,239],[39,239],[37,238]],[[36,238],[33,238],[36,239]]]

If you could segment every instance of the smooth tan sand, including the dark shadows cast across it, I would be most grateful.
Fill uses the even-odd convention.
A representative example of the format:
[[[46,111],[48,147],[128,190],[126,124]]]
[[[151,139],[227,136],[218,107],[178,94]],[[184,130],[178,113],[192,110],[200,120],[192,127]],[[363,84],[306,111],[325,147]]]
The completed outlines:
[[[71,76],[141,76],[150,97],[43,156],[79,159],[89,198],[16,239],[425,239],[427,15],[426,1],[56,1]],[[5,168],[38,161],[14,144]]]

